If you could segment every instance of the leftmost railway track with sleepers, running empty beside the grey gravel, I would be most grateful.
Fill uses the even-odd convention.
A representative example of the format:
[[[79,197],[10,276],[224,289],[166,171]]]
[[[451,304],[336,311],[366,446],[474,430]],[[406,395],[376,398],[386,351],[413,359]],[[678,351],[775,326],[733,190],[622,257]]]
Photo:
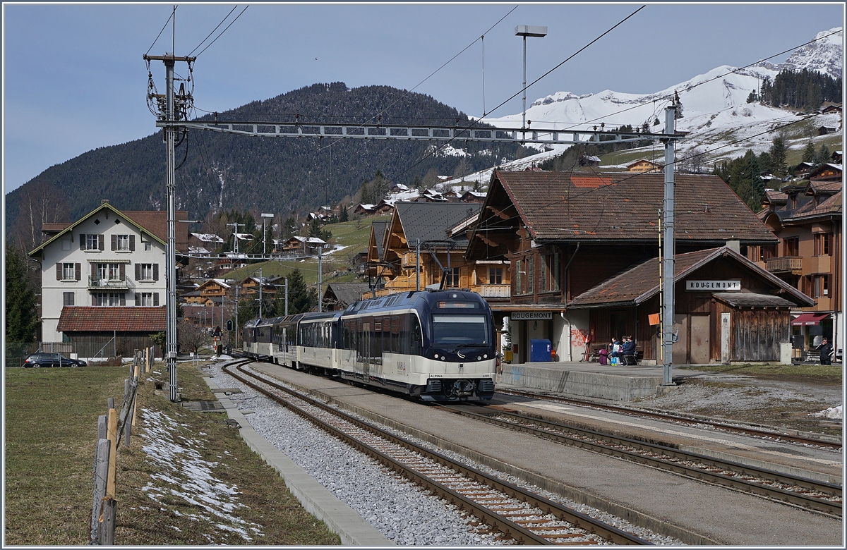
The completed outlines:
[[[250,362],[237,360],[224,366],[223,371],[515,542],[562,546],[651,544],[247,371],[245,366]]]

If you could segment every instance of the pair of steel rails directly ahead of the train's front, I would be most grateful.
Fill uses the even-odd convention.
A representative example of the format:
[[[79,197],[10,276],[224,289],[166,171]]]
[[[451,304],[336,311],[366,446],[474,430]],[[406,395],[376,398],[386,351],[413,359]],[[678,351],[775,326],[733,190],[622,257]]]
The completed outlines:
[[[677,473],[683,476],[693,477],[702,481],[709,481],[716,485],[731,487],[739,491],[751,492],[762,497],[772,498],[774,500],[791,503],[805,509],[816,510],[818,512],[831,514],[839,518],[842,515],[842,503],[836,503],[821,498],[810,497],[798,492],[787,491],[778,487],[769,487],[761,483],[756,483],[755,481],[747,481],[734,476],[727,476],[724,474],[710,472],[708,470],[703,470],[702,468],[697,468],[695,466],[675,464],[673,462],[669,462],[667,459],[653,458],[636,452],[627,451],[620,448],[613,448],[609,445],[624,445],[632,448],[638,448],[640,450],[647,451],[650,453],[666,455],[667,457],[672,459],[700,462],[705,465],[721,468],[722,470],[730,470],[742,475],[764,477],[769,481],[776,481],[778,483],[785,483],[798,487],[804,487],[806,489],[811,489],[813,491],[822,492],[828,495],[832,495],[833,497],[841,498],[842,488],[838,485],[827,483],[825,481],[817,481],[800,476],[791,476],[790,474],[783,474],[782,472],[766,470],[763,468],[758,468],[756,466],[744,465],[730,460],[715,459],[704,454],[688,453],[675,448],[658,445],[656,443],[647,443],[628,437],[612,436],[607,433],[596,432],[595,430],[567,426],[565,424],[559,424],[557,422],[552,421],[543,421],[534,416],[529,415],[521,415],[518,413],[505,412],[501,410],[497,410],[496,412],[491,412],[489,414],[483,415],[479,413],[470,412],[468,410],[456,409],[454,407],[451,407],[450,405],[442,406],[445,410],[449,410],[450,412],[457,415],[467,416],[469,418],[473,418],[474,420],[484,421],[495,426],[507,428],[509,430],[529,433],[537,437],[550,439],[551,441],[555,441],[556,443],[565,443],[580,448],[587,448],[589,450],[601,454],[628,459],[639,464],[650,465],[661,470],[672,471],[673,473]],[[595,439],[600,439],[609,443],[609,445],[593,441],[586,441],[584,439],[580,439],[579,437],[570,437],[565,435],[564,433],[553,433],[532,426],[523,426],[508,421],[498,420],[496,418],[493,418],[492,415],[506,416],[509,418],[513,418],[517,421],[528,422],[536,426],[545,426],[550,429],[555,429],[560,432],[569,432],[578,436],[594,437]]]

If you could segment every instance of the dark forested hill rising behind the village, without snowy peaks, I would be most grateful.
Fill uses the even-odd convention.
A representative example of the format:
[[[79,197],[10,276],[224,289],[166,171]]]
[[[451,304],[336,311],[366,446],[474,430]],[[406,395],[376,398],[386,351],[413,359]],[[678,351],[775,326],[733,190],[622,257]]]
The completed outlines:
[[[220,121],[456,124],[464,113],[430,96],[389,86],[348,89],[315,84],[225,113]],[[201,120],[212,120],[208,114]],[[151,120],[151,126],[153,121]],[[472,172],[512,159],[512,145],[451,144],[470,155],[436,154],[439,142],[255,138],[191,131],[176,151],[177,208],[190,219],[209,211],[261,209],[288,215],[355,195],[377,170],[396,183],[416,184],[431,168],[440,174]],[[465,158],[465,162],[462,161]],[[419,162],[420,161],[420,162]],[[165,207],[165,149],[161,134],[89,151],[48,168],[6,196],[6,227],[20,241],[38,238],[42,222],[72,221],[109,199],[120,209]]]

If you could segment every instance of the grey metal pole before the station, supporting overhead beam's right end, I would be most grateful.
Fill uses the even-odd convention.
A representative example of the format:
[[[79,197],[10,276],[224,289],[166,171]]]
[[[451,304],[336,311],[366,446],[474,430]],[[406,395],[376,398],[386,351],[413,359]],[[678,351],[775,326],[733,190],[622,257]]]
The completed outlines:
[[[676,129],[677,105],[665,107],[665,134]],[[665,141],[665,193],[662,201],[662,386],[673,386],[673,144]]]

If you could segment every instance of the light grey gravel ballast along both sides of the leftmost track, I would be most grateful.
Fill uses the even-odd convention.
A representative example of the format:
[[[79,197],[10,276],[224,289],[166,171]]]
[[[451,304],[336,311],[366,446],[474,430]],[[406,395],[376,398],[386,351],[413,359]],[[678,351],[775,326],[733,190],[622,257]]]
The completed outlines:
[[[252,388],[241,385],[221,371],[223,364],[210,366],[209,375],[219,388],[241,388],[229,399],[246,416],[253,429],[291,458],[337,498],[356,510],[365,520],[398,545],[481,546],[503,544],[493,534],[476,532],[467,513],[435,497],[425,489],[407,481],[373,459],[341,443],[319,430],[300,416],[275,404]],[[373,421],[368,421],[374,423]],[[385,426],[380,426],[385,427]],[[422,446],[429,443],[415,440]],[[538,492],[545,498],[563,503],[573,509],[606,521],[656,544],[682,544],[676,539],[657,536],[645,529],[630,525],[611,514],[574,503],[559,495],[473,463],[450,451],[437,449],[453,459],[479,470],[494,473],[502,479]]]

